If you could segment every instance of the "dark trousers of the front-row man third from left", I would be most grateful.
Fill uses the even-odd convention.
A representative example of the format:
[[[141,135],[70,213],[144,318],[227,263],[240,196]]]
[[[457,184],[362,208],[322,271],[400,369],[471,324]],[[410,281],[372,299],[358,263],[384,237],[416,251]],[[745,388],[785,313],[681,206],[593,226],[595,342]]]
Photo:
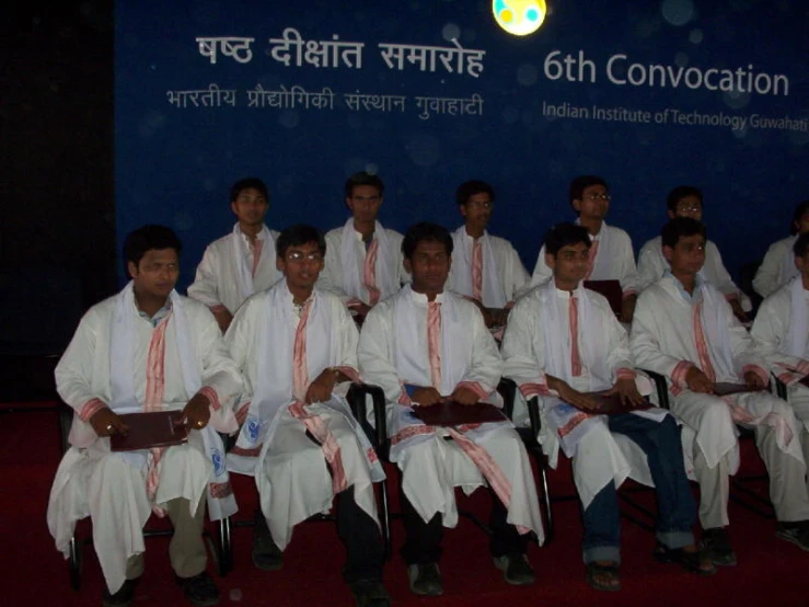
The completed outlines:
[[[508,517],[506,506],[494,491],[489,490],[489,494],[492,495],[492,514],[489,515],[492,556],[496,558],[524,553],[528,547],[528,534],[520,535],[517,527],[506,522]],[[406,534],[402,558],[408,565],[437,563],[441,560],[441,539],[443,538],[441,513],[437,513],[429,523],[425,523],[401,488],[400,503]]]

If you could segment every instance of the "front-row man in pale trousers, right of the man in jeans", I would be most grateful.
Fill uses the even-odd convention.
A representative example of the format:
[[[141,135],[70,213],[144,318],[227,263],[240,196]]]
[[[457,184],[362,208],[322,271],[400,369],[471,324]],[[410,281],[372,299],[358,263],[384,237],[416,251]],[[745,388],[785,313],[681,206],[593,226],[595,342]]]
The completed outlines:
[[[705,226],[678,217],[662,230],[670,270],[640,294],[629,346],[638,367],[666,376],[671,411],[695,435],[692,453],[700,483],[703,547],[718,565],[736,563],[727,530],[729,474],[739,468],[736,424],[755,431],[755,445],[770,473],[770,500],[777,535],[809,549],[806,465],[795,414],[764,391],[766,363],[725,297],[702,280]],[[717,383],[758,390],[724,397]]]

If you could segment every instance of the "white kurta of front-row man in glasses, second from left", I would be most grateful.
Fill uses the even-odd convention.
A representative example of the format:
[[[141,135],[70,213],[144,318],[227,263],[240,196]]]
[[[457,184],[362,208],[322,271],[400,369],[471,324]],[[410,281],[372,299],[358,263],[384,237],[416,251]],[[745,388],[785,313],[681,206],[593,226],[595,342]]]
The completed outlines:
[[[348,310],[330,293],[315,289],[312,297],[305,332],[309,382],[328,367],[337,367],[356,379],[358,334]],[[288,312],[270,309],[281,299],[289,304]],[[336,489],[333,474],[345,473],[345,486],[354,488],[357,504],[378,522],[372,482],[384,478],[370,444],[351,423],[350,411],[337,393],[344,396],[348,382],[338,386],[331,401],[304,408],[308,415],[324,424],[339,448],[342,470],[330,472],[324,450],[309,439],[307,426],[291,414],[290,408],[297,400],[292,394],[292,366],[270,360],[266,368],[259,368],[261,351],[268,341],[270,357],[278,360],[293,357],[300,319],[292,311],[291,301],[286,280],[280,280],[271,289],[247,299],[226,334],[231,355],[244,376],[244,392],[236,412],[243,423],[238,447],[242,444],[252,447],[241,453],[232,449],[228,467],[234,472],[255,476],[262,512],[274,541],[281,549],[289,543],[294,525],[331,508]],[[276,313],[286,316],[286,331],[270,335],[265,317]],[[263,403],[256,411],[252,401],[258,398],[256,391],[262,381],[288,388],[277,390],[271,402]],[[375,462],[373,469],[372,462]]]

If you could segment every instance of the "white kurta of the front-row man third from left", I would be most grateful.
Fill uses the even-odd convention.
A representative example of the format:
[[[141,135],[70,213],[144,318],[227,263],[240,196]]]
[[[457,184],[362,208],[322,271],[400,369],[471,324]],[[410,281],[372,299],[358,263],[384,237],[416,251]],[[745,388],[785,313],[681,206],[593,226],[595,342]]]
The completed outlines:
[[[450,291],[440,294],[437,301],[441,305],[441,385],[436,389],[448,396],[462,385],[483,400],[499,403],[495,389],[502,360],[479,310]],[[424,520],[441,513],[443,525],[454,527],[458,508],[453,488],[471,493],[494,478],[493,489],[508,509],[508,523],[522,531],[535,531],[542,541],[544,532],[531,465],[511,423],[448,431],[426,426],[411,413],[404,385],[432,385],[427,304],[426,296],[405,286],[369,312],[358,348],[363,379],[382,387],[389,401],[391,459],[402,470],[405,494]],[[448,434],[455,440],[444,440]],[[471,442],[472,450],[478,449],[478,461],[484,462],[473,462],[459,447],[459,440]]]

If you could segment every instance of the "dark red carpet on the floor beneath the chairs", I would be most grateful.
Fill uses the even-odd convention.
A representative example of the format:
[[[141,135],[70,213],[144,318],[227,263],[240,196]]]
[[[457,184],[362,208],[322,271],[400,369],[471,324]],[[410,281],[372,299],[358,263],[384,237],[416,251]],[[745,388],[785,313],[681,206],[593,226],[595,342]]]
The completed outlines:
[[[5,582],[3,605],[101,605],[101,571],[92,547],[83,549],[82,587],[71,589],[66,562],[54,548],[45,508],[54,472],[60,457],[56,412],[33,411],[3,414],[0,420],[0,571]],[[749,443],[749,442],[747,442]],[[744,466],[759,461],[746,444]],[[570,491],[568,469],[551,476],[552,491]],[[754,485],[766,492],[764,483]],[[249,479],[236,486],[241,516],[252,513],[255,492]],[[478,495],[479,494],[479,495]],[[651,494],[640,494],[651,503]],[[460,497],[466,509],[487,517],[488,496],[478,491]],[[623,589],[597,593],[585,583],[579,550],[581,527],[575,501],[555,504],[556,538],[546,548],[532,547],[529,557],[538,572],[531,587],[515,588],[502,582],[488,557],[486,536],[463,519],[444,535],[441,571],[444,595],[419,598],[407,588],[405,568],[397,554],[385,568],[385,583],[393,604],[435,607],[481,607],[488,605],[635,606],[679,605],[809,605],[807,570],[809,553],[775,538],[773,520],[730,506],[730,532],[739,565],[720,570],[712,577],[682,572],[675,565],[655,563],[650,553],[654,538],[629,523],[623,525]],[[240,515],[236,515],[238,517]],[[86,537],[89,527],[80,525]],[[394,520],[396,548],[402,541],[401,524]],[[234,570],[217,579],[222,589],[221,605],[239,606],[350,606],[348,588],[340,579],[344,552],[331,523],[300,525],[285,557],[284,570],[265,573],[250,562],[250,528],[234,530]],[[211,566],[211,571],[213,571]],[[234,600],[234,599],[239,600]],[[138,587],[136,607],[185,605],[174,585],[167,559],[167,539],[147,540],[147,572]]]

